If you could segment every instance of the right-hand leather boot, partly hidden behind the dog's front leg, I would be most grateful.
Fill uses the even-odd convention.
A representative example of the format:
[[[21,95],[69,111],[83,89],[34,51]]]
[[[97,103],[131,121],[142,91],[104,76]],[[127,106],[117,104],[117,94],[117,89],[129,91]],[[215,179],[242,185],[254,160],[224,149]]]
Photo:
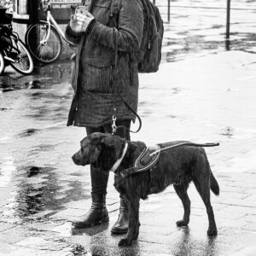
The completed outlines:
[[[125,234],[128,231],[128,207],[124,198],[120,198],[119,218],[113,224],[112,234]]]

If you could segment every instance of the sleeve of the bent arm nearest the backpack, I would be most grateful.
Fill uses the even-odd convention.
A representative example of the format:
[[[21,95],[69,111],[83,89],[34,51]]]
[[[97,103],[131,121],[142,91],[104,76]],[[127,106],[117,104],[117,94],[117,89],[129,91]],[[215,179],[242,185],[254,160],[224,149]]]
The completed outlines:
[[[90,29],[90,37],[114,49],[114,28],[96,21]],[[122,0],[117,30],[118,50],[137,51],[143,36],[143,7],[138,0]]]

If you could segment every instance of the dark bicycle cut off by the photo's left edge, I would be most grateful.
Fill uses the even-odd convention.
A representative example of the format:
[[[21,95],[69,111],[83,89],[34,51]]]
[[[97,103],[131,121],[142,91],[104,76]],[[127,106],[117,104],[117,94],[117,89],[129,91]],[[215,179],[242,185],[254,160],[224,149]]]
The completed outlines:
[[[32,55],[11,24],[0,25],[0,75],[9,65],[25,75],[31,74],[34,68]]]

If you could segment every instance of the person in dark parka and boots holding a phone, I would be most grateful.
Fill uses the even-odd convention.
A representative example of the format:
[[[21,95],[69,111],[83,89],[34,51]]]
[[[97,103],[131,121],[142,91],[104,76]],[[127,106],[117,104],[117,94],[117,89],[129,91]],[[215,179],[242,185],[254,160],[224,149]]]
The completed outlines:
[[[136,53],[143,35],[143,6],[139,0],[86,0],[86,15],[72,15],[66,28],[66,37],[76,47],[72,85],[73,101],[67,125],[85,127],[87,135],[93,132],[111,132],[113,107],[116,108],[118,129],[116,135],[130,140],[131,120],[137,111],[138,71]],[[118,12],[113,12],[116,4]],[[115,10],[116,10],[115,9]],[[117,39],[116,39],[117,38]],[[117,47],[117,66],[113,83],[113,66]],[[118,96],[124,98],[125,102]],[[106,194],[108,175],[90,166],[90,211],[74,222],[76,228],[86,228],[108,222]],[[125,199],[120,198],[119,218],[112,233],[128,230],[128,210]]]

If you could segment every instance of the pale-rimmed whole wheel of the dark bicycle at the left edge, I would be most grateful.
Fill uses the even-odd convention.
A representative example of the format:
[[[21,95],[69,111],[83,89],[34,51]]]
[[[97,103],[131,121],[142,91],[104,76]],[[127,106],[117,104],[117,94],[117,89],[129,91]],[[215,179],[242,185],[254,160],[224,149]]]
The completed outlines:
[[[12,38],[13,48],[10,52],[10,57],[15,62],[10,62],[10,66],[13,67],[17,72],[22,74],[30,74],[34,69],[34,63],[32,55],[30,55],[25,44],[20,39]]]

